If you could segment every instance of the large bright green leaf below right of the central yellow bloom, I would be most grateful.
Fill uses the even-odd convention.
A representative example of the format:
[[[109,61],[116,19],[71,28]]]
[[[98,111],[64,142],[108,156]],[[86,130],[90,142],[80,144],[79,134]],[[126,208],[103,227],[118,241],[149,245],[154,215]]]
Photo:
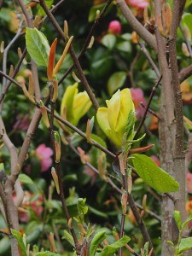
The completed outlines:
[[[174,192],[179,189],[177,181],[167,172],[156,166],[154,160],[144,154],[132,154],[133,165],[143,181],[160,193]]]

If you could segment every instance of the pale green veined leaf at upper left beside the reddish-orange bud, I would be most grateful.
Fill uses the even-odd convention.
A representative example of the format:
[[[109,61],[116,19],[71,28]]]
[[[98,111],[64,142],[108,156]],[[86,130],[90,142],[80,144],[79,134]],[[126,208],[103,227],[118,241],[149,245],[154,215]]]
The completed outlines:
[[[48,66],[49,43],[37,28],[26,27],[26,49],[38,66]]]

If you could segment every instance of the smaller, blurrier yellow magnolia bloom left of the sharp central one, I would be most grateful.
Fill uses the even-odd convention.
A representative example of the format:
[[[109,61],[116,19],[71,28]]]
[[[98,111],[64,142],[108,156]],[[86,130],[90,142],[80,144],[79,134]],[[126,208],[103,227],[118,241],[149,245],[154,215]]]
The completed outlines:
[[[68,86],[61,101],[61,116],[73,125],[78,125],[92,105],[86,91],[78,92],[78,83]]]

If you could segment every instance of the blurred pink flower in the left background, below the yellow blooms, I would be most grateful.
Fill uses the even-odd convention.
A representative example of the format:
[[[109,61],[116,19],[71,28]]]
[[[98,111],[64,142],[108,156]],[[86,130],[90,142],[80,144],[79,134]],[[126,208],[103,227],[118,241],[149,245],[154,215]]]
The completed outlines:
[[[52,165],[53,160],[51,155],[53,155],[53,150],[49,147],[46,147],[44,144],[40,144],[36,149],[36,155],[38,160],[41,162],[41,172],[45,172]]]

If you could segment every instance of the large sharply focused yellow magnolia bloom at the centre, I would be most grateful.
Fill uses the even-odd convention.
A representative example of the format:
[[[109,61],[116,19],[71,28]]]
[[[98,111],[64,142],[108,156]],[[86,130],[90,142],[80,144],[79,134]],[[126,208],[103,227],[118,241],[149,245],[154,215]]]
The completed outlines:
[[[102,131],[119,148],[123,143],[125,128],[128,124],[129,113],[134,111],[131,99],[131,91],[126,88],[118,90],[109,101],[106,101],[108,108],[98,108],[96,119]],[[127,139],[132,139],[131,137]]]

